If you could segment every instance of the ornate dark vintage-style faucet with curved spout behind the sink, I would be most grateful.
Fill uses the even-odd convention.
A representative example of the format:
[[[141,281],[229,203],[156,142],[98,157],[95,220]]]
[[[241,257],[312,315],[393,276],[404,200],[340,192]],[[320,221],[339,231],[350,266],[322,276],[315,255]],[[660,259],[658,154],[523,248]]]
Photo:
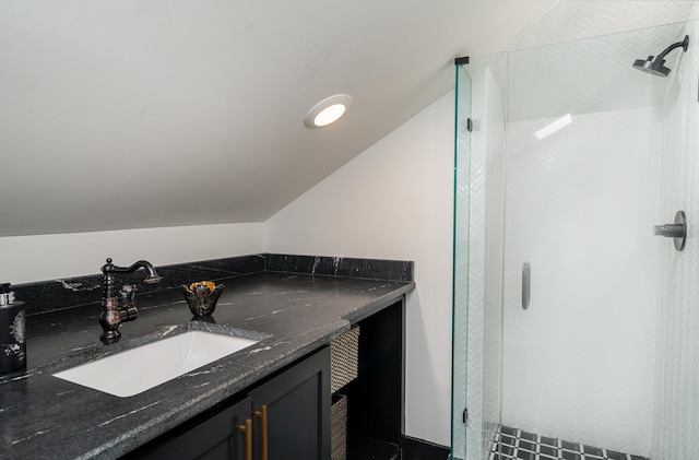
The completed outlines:
[[[119,332],[119,325],[127,321],[133,321],[137,317],[138,310],[133,305],[135,298],[135,286],[125,285],[122,291],[128,295],[127,305],[119,305],[119,297],[116,295],[116,282],[117,273],[133,273],[139,269],[145,269],[147,276],[143,281],[146,284],[157,283],[163,278],[157,274],[155,268],[151,262],[145,260],[139,260],[134,264],[128,268],[117,267],[111,263],[111,259],[107,259],[107,263],[102,267],[104,273],[104,294],[102,297],[102,312],[99,314],[99,325],[102,326],[103,333],[99,337],[103,342],[112,342],[119,340],[121,333]]]

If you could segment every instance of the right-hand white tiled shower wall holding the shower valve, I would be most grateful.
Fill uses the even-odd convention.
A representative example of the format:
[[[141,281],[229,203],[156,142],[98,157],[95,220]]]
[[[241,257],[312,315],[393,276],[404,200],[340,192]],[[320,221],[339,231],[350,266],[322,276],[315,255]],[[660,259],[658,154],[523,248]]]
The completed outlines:
[[[697,17],[695,7],[694,17]],[[655,416],[651,459],[697,458],[699,426],[699,23],[688,23],[690,46],[673,70],[674,89],[662,125],[661,217],[684,210],[684,251],[662,241],[657,299]],[[660,127],[659,127],[660,128]]]

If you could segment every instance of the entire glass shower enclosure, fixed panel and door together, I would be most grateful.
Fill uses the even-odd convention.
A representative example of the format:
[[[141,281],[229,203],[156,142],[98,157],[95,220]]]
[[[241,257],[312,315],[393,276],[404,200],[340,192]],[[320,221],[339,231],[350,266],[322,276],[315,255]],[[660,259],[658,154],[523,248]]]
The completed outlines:
[[[632,67],[686,35],[666,78]],[[457,66],[451,458],[699,457],[697,38]]]

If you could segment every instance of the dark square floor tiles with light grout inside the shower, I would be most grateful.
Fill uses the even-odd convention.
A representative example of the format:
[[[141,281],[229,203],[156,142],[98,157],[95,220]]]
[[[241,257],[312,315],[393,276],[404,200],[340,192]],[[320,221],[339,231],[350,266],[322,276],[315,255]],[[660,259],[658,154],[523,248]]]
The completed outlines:
[[[547,438],[509,426],[496,435],[490,460],[648,460],[578,443]]]

